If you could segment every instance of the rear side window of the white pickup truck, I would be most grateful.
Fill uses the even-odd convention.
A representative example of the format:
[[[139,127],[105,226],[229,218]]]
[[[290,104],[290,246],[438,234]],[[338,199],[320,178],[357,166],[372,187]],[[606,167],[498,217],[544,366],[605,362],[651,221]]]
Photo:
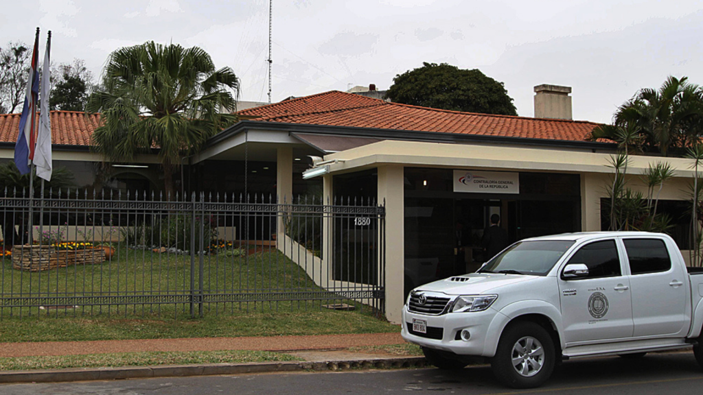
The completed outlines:
[[[669,250],[666,250],[664,240],[624,239],[623,242],[633,275],[669,271],[671,268]]]

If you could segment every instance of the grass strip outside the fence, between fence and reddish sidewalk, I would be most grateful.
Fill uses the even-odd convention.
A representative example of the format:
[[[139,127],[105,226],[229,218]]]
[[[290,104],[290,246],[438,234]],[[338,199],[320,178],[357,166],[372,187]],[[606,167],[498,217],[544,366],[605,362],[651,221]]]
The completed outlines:
[[[0,342],[175,339],[398,332],[399,327],[357,311],[240,313],[195,319],[24,317],[0,321]]]

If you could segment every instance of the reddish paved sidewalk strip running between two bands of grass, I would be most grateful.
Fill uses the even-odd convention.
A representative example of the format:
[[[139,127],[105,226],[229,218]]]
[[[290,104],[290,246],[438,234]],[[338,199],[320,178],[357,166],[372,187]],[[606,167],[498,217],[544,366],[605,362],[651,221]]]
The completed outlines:
[[[97,340],[0,343],[0,357],[60,356],[139,351],[299,351],[402,344],[399,332],[361,335],[206,337],[194,339]]]

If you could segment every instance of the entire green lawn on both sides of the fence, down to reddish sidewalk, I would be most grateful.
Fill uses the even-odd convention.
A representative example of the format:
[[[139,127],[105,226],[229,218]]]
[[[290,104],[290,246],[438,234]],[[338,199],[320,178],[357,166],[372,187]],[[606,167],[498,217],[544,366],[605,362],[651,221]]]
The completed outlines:
[[[199,263],[196,257],[196,265]],[[203,304],[191,318],[190,304],[63,306],[58,309],[7,307],[12,298],[60,294],[189,294],[191,257],[150,250],[117,249],[102,264],[77,265],[32,273],[0,262],[0,342],[113,339],[165,339],[397,332],[378,311],[340,299]],[[200,281],[195,270],[194,283]],[[249,256],[203,257],[205,292],[223,294],[323,292],[307,273],[275,247]],[[356,311],[332,311],[325,304],[347,303]],[[199,311],[195,309],[195,316]]]

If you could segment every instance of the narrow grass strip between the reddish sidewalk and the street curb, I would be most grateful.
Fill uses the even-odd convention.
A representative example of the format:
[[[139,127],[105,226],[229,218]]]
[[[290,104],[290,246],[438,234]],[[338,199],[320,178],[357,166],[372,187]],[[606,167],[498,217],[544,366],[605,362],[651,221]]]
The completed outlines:
[[[269,351],[169,351],[69,356],[0,358],[0,370],[105,368],[120,366],[188,365],[297,361],[288,354]]]

